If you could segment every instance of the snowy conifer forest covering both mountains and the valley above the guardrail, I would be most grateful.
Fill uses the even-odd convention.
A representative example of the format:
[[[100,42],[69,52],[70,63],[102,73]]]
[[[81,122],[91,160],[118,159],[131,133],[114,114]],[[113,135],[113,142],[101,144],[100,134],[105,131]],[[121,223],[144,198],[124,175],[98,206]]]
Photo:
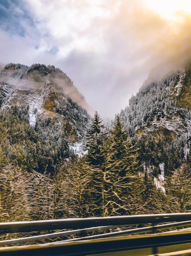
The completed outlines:
[[[190,66],[107,123],[60,89],[55,77],[77,90],[54,66],[11,63],[0,77],[2,222],[191,210]]]

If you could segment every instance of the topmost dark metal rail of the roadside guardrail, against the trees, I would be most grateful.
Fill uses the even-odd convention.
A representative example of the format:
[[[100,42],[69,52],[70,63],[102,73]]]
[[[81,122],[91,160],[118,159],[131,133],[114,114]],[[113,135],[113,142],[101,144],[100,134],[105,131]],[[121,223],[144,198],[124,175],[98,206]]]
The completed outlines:
[[[67,228],[91,228],[96,226],[136,225],[191,220],[191,213],[170,213],[152,215],[129,215],[94,218],[70,218],[60,220],[39,220],[0,223],[0,234],[59,230]]]

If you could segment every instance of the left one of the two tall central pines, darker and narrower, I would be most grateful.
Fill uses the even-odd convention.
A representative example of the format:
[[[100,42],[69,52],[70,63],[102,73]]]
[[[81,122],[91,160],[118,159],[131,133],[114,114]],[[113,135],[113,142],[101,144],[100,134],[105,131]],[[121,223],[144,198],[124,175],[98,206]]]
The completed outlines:
[[[94,119],[86,136],[86,150],[88,150],[88,153],[81,163],[81,173],[83,175],[81,179],[85,180],[86,187],[83,188],[80,200],[86,200],[85,207],[83,208],[86,211],[86,216],[102,216],[105,190],[104,163],[106,141],[106,134],[103,128],[102,120],[99,114],[95,112]]]

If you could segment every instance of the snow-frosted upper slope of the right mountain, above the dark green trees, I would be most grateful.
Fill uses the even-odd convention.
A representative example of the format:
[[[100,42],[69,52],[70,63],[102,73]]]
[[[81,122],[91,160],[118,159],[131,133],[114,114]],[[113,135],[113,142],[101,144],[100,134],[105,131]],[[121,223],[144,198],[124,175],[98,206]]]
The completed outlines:
[[[144,86],[121,111],[130,136],[134,134],[175,135],[190,131],[191,68]]]

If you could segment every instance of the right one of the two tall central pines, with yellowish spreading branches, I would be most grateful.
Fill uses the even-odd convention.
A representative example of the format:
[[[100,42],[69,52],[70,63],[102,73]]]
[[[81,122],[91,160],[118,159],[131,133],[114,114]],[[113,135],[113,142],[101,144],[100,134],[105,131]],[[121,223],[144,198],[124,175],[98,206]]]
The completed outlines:
[[[105,215],[128,214],[134,196],[135,183],[138,182],[135,145],[127,140],[119,115],[113,126],[105,161]]]

